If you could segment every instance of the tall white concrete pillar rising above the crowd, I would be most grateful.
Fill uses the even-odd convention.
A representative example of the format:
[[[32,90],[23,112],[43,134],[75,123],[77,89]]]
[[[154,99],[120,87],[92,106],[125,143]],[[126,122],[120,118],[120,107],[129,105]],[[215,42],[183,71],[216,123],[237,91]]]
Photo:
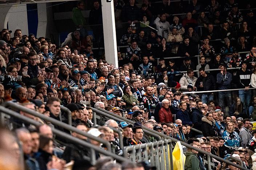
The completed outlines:
[[[101,0],[105,58],[108,63],[118,67],[114,3],[113,0],[109,1]]]

